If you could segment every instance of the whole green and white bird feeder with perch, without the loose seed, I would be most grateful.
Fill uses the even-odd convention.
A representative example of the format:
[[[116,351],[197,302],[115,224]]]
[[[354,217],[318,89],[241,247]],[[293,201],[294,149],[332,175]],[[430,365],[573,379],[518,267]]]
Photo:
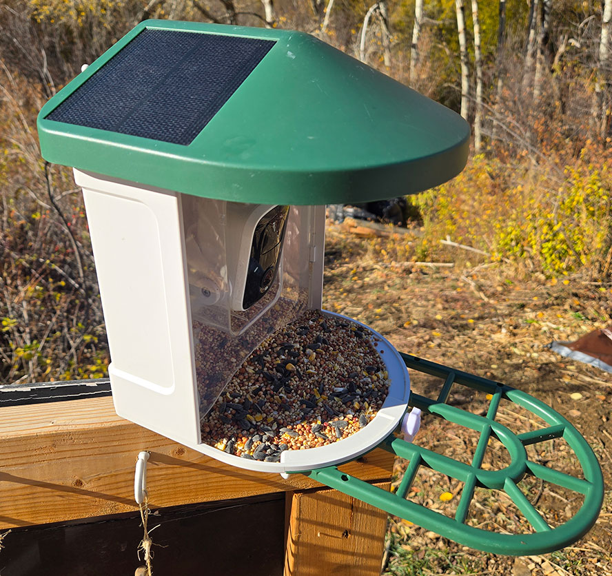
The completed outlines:
[[[602,475],[567,420],[520,391],[400,354],[376,333],[389,392],[349,438],[285,449],[276,462],[202,442],[201,421],[249,354],[320,309],[325,205],[411,194],[456,176],[469,145],[460,116],[308,34],[146,21],[54,96],[38,127],[43,156],[74,167],[83,187],[119,415],[234,466],[307,473],[484,551],[551,551],[593,525]],[[438,398],[411,394],[406,367],[439,377]],[[449,406],[453,386],[490,393],[487,415]],[[496,422],[502,398],[549,426],[513,435]],[[396,438],[411,407],[478,431],[471,465]],[[481,468],[491,436],[511,455],[504,470]],[[524,446],[559,437],[583,479],[529,461]],[[396,493],[336,468],[376,446],[409,460]],[[405,498],[419,466],[465,482],[454,519]],[[580,511],[550,528],[517,487],[527,474],[584,495]],[[466,524],[477,486],[504,490],[535,533]]]

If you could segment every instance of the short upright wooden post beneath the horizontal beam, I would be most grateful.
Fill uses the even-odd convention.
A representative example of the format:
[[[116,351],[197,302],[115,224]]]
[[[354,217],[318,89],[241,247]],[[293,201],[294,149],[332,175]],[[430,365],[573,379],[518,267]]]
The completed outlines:
[[[375,485],[389,490],[390,483]],[[379,575],[386,525],[387,513],[336,490],[294,493],[285,576]]]

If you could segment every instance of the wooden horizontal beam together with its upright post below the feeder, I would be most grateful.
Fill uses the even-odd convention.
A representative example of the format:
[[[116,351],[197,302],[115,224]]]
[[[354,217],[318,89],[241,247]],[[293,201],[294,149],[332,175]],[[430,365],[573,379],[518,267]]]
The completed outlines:
[[[0,409],[0,531],[136,511],[134,466],[142,450],[151,453],[152,508],[285,492],[287,574],[340,574],[334,570],[341,566],[356,566],[351,575],[380,572],[385,513],[302,474],[283,480],[187,449],[119,418],[108,397]],[[343,470],[388,483],[393,461],[375,450]]]

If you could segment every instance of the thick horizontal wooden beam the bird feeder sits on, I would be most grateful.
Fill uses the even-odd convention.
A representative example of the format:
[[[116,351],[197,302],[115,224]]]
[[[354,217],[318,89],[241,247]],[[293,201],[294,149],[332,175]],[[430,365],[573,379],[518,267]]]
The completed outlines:
[[[0,529],[133,511],[134,464],[151,452],[152,507],[296,491],[316,482],[301,474],[236,469],[119,418],[112,398],[0,409]],[[382,450],[343,466],[364,480],[388,478]]]

